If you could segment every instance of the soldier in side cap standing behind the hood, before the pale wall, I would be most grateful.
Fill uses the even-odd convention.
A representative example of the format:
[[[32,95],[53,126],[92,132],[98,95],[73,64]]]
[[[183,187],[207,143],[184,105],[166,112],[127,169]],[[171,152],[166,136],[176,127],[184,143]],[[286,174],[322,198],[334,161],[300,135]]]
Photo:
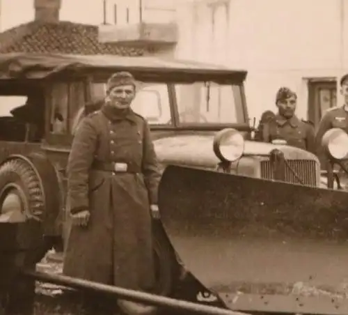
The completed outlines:
[[[278,114],[264,125],[262,140],[272,142],[281,139],[285,140],[289,146],[315,153],[314,126],[295,115],[296,103],[296,93],[286,87],[278,90],[276,94]]]

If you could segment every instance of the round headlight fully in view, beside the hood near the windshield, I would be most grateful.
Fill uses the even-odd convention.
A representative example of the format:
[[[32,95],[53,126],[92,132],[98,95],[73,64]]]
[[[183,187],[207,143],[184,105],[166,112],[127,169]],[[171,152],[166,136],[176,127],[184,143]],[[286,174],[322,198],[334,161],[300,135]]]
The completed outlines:
[[[214,153],[221,161],[234,162],[243,155],[244,138],[235,129],[223,129],[216,133],[213,147]]]

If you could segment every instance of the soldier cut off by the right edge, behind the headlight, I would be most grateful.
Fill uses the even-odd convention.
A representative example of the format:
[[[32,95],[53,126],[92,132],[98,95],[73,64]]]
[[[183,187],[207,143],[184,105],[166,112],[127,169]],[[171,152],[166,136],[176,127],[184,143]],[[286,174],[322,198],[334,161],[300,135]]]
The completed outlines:
[[[348,74],[340,79],[340,93],[344,98],[344,104],[327,110],[318,125],[315,139],[317,154],[321,162],[324,162],[322,137],[325,132],[332,128],[341,128],[342,130],[345,130],[345,132],[348,132]]]

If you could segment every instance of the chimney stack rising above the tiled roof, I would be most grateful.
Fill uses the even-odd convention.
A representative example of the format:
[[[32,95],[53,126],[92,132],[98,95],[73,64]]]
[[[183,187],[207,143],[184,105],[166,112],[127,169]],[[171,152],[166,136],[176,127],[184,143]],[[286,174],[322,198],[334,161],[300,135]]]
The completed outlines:
[[[35,21],[59,22],[61,0],[34,0]]]

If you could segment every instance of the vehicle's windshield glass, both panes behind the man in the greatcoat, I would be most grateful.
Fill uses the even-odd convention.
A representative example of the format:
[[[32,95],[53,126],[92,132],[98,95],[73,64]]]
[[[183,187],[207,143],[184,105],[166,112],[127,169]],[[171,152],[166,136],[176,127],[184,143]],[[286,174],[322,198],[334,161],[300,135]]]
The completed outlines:
[[[136,98],[132,102],[134,112],[148,120],[150,125],[173,124],[172,112],[178,113],[177,123],[187,124],[235,124],[245,123],[242,89],[238,85],[194,82],[173,84],[177,109],[168,84],[138,82]],[[93,84],[93,98],[104,98],[105,84]]]

